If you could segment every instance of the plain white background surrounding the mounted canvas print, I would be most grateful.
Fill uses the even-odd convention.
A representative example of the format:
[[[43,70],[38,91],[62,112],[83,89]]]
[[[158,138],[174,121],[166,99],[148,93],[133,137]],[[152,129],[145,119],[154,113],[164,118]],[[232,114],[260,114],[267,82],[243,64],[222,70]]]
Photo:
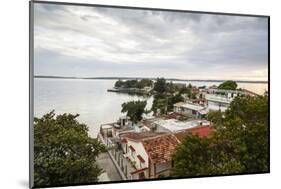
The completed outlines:
[[[59,0],[58,0],[59,1]],[[123,5],[271,16],[271,174],[199,178],[142,183],[79,186],[79,188],[276,188],[280,186],[281,100],[280,6],[276,0],[67,0]],[[28,1],[2,1],[0,68],[0,188],[28,187]],[[78,188],[78,187],[68,187]]]

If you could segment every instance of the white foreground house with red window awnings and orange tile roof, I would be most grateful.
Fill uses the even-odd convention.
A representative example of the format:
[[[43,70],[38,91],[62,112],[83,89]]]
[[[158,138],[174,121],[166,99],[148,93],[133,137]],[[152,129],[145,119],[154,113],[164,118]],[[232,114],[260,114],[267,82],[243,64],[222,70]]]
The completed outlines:
[[[173,134],[128,133],[121,136],[124,174],[128,179],[158,178],[168,175],[172,154],[178,144]]]

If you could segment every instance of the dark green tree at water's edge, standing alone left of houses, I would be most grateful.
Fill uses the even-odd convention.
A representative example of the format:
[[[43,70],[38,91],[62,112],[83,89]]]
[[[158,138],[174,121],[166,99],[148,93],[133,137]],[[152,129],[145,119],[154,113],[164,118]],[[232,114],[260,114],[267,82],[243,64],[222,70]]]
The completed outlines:
[[[146,101],[130,101],[122,104],[121,112],[127,112],[133,123],[142,120],[142,114],[145,112]]]

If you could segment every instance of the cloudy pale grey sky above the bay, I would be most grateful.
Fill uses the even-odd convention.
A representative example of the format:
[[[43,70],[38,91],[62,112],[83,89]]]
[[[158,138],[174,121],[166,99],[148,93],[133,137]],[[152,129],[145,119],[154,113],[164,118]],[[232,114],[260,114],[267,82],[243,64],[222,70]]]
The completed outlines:
[[[267,81],[268,20],[35,3],[34,74]]]

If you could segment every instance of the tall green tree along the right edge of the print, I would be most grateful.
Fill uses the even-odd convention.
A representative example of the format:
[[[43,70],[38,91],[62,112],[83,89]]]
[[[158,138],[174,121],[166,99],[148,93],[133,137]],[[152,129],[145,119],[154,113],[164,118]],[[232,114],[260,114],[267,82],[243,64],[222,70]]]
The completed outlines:
[[[268,171],[268,97],[236,97],[226,111],[220,129],[222,140],[230,139],[243,172]]]

